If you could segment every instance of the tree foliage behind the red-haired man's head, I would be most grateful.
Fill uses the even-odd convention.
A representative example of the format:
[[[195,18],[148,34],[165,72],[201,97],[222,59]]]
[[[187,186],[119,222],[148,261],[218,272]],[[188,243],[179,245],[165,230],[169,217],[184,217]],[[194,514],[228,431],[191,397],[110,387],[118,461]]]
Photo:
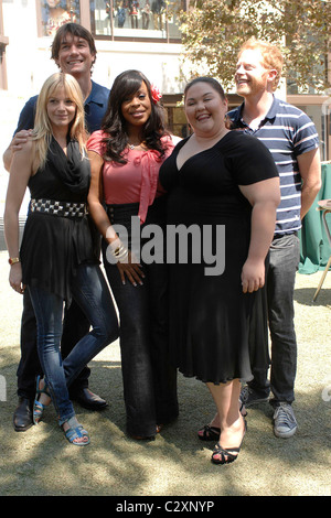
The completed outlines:
[[[288,84],[303,91],[331,86],[330,0],[191,0],[181,20],[190,75],[203,71],[229,88],[242,43],[256,36],[282,48]]]

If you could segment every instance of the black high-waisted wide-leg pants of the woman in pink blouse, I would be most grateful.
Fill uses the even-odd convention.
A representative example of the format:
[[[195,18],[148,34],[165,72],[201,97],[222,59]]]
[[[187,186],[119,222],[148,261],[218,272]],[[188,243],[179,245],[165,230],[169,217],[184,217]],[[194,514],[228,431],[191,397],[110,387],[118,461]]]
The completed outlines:
[[[145,225],[163,225],[164,209],[163,199],[154,203]],[[128,230],[131,248],[131,216],[137,216],[138,204],[108,206],[107,213],[115,228],[120,224]],[[119,310],[127,431],[154,435],[157,424],[178,417],[177,369],[168,359],[168,268],[141,260],[143,284],[134,287],[129,280],[122,284],[117,266],[106,259],[106,250],[104,242],[104,266]]]

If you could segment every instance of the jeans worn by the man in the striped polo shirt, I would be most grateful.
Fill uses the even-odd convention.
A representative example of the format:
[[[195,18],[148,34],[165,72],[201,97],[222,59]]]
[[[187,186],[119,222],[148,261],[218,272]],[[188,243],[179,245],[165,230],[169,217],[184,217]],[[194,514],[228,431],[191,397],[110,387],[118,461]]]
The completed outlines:
[[[293,292],[299,260],[300,241],[297,234],[274,239],[266,282],[271,338],[270,384],[267,371],[254,371],[254,380],[249,382],[252,388],[266,396],[271,390],[273,406],[295,400],[297,338]]]

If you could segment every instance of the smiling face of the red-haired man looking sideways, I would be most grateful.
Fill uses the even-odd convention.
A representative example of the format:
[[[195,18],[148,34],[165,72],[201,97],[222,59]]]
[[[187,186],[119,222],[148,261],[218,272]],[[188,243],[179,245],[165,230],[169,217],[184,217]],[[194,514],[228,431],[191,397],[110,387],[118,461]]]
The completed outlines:
[[[247,97],[273,90],[276,71],[266,68],[261,52],[258,48],[247,48],[239,55],[235,83],[237,94]]]

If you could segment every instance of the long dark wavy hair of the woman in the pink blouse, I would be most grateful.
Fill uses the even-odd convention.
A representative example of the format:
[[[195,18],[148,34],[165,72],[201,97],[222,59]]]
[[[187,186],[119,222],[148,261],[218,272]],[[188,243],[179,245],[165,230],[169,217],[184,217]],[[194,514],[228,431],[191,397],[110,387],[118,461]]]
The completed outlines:
[[[119,74],[111,87],[107,111],[104,117],[102,129],[109,134],[104,139],[106,143],[106,160],[113,160],[118,163],[127,163],[124,153],[128,144],[127,122],[121,112],[121,105],[128,97],[139,90],[141,83],[147,86],[148,95],[151,101],[151,115],[141,128],[141,138],[148,149],[159,151],[160,158],[163,158],[167,144],[161,138],[169,134],[164,127],[164,110],[159,102],[152,100],[151,85],[147,77],[139,71],[126,71]]]

